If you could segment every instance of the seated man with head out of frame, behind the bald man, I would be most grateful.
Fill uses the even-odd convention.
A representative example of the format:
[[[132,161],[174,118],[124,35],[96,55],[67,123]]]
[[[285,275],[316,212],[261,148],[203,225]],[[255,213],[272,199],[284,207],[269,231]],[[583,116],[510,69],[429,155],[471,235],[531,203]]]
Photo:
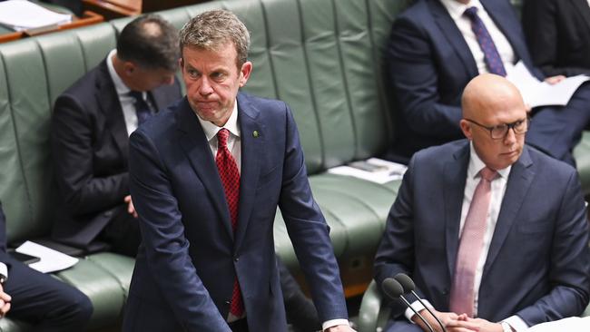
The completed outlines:
[[[540,80],[526,49],[514,8],[507,0],[419,0],[400,14],[388,46],[388,66],[396,98],[396,138],[391,159],[407,161],[428,146],[461,138],[460,99],[478,73],[495,73],[489,51],[474,32],[475,7],[505,70],[519,60]],[[537,107],[526,140],[559,160],[574,164],[571,151],[590,122],[590,85],[578,89],[565,107]]]

